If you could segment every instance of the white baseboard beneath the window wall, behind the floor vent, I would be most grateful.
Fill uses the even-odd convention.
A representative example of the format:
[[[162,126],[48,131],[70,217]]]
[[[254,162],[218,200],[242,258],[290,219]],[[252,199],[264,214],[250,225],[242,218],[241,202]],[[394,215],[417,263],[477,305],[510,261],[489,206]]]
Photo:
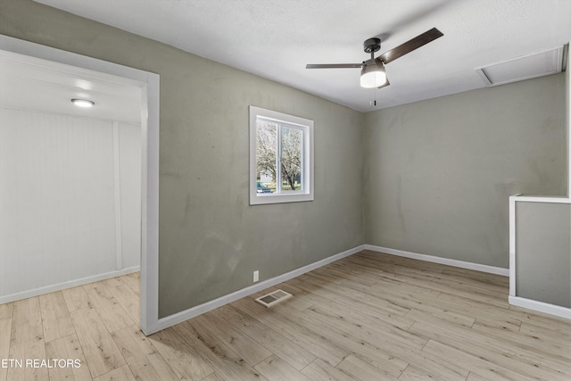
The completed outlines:
[[[175,324],[181,323],[187,319],[192,319],[195,316],[203,314],[204,312],[214,310],[230,302],[236,302],[238,299],[242,299],[245,296],[257,293],[271,286],[276,286],[282,282],[285,282],[286,280],[292,279],[294,277],[299,277],[300,275],[305,274],[306,272],[309,272],[313,269],[319,269],[320,267],[323,267],[328,263],[339,261],[345,257],[348,257],[354,253],[359,253],[363,250],[365,250],[365,245],[361,244],[360,246],[354,247],[343,253],[332,255],[331,257],[327,257],[321,261],[313,262],[307,266],[303,266],[302,268],[294,269],[290,272],[286,272],[285,274],[279,275],[277,277],[272,277],[271,279],[264,280],[255,285],[247,286],[245,288],[242,288],[241,290],[235,291],[234,293],[220,296],[219,298],[211,300],[210,302],[205,302],[203,304],[189,308],[188,310],[180,311],[178,313],[175,313],[174,315],[170,315],[167,316],[166,318],[159,319],[157,326],[152,327],[152,332],[149,332],[147,335],[151,335],[154,332],[158,332],[161,331],[162,329],[172,327]]]

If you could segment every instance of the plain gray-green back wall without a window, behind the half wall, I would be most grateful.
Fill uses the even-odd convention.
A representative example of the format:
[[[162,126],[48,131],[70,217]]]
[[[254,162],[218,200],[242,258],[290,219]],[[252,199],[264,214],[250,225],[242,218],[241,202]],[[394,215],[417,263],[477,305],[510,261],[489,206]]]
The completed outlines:
[[[366,114],[367,243],[508,268],[509,195],[567,192],[564,79]]]

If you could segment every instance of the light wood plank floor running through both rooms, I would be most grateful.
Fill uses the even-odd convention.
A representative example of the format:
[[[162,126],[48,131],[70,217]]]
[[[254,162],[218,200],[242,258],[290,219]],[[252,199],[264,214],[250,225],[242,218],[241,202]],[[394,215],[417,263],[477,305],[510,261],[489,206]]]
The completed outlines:
[[[0,305],[0,361],[81,365],[0,380],[571,380],[571,322],[510,307],[507,277],[365,251],[150,337],[138,284]],[[294,297],[254,302],[277,288]]]

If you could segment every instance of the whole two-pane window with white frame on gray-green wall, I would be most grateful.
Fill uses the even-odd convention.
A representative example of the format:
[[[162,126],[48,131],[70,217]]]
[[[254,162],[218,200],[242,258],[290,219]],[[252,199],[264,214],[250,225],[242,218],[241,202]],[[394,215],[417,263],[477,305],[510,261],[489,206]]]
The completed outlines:
[[[313,200],[313,120],[250,106],[250,204]]]

